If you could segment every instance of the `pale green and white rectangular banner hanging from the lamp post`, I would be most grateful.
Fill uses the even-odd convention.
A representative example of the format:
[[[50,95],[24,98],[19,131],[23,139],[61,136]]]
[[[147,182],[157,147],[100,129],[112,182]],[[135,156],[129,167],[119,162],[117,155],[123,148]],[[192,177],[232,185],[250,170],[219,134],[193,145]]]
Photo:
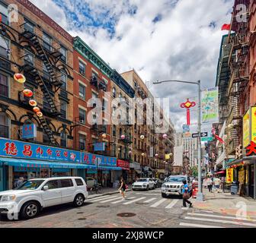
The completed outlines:
[[[219,122],[219,92],[218,88],[202,91],[202,123]]]

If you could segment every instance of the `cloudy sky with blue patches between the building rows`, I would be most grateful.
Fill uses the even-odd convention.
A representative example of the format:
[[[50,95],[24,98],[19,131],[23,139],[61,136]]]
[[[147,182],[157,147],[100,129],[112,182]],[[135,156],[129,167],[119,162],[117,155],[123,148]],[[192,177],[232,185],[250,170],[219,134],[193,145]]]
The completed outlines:
[[[186,123],[180,104],[197,102],[197,86],[155,80],[202,81],[215,87],[222,24],[233,0],[30,0],[72,36],[80,36],[119,73],[134,68],[154,96],[170,99],[176,131]],[[197,126],[197,107],[191,110]]]

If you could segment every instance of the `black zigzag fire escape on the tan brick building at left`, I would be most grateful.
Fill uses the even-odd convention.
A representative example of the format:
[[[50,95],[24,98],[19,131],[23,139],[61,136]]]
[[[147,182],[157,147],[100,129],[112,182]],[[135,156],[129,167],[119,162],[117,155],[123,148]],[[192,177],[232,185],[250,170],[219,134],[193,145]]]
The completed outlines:
[[[20,71],[24,71],[25,76],[32,77],[36,82],[37,85],[40,87],[40,90],[43,93],[43,113],[49,115],[51,117],[56,117],[61,115],[59,112],[59,107],[56,105],[56,99],[54,98],[54,94],[59,90],[62,86],[62,81],[56,77],[56,71],[53,68],[52,63],[50,62],[50,58],[48,55],[51,55],[55,59],[56,62],[59,61],[61,57],[61,53],[58,51],[55,52],[46,52],[42,45],[42,41],[38,38],[38,36],[31,32],[30,30],[26,30],[22,28],[20,33],[20,38],[27,40],[31,46],[37,50],[37,55],[39,55],[40,60],[43,62],[47,74],[49,74],[48,78],[43,77],[40,71],[37,70],[34,65],[31,65],[29,62],[24,62],[21,66]],[[24,61],[26,57],[24,56]],[[53,87],[55,90],[53,91]],[[38,117],[40,120],[40,124],[43,127],[43,131],[47,135],[50,144],[58,145],[56,138],[53,136],[53,131],[50,128],[49,121],[45,118],[44,114],[43,117]]]

